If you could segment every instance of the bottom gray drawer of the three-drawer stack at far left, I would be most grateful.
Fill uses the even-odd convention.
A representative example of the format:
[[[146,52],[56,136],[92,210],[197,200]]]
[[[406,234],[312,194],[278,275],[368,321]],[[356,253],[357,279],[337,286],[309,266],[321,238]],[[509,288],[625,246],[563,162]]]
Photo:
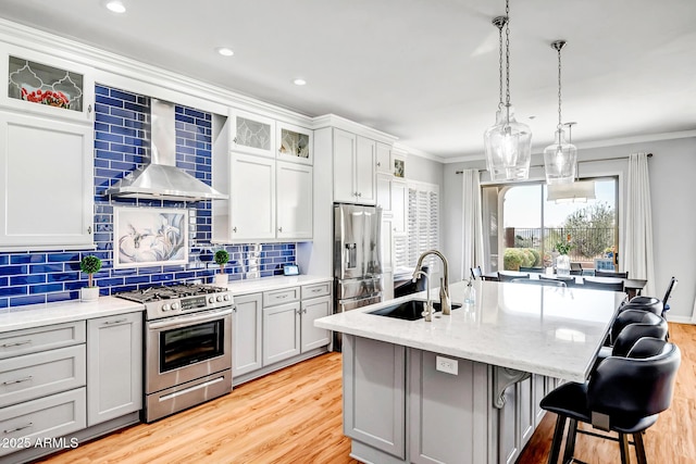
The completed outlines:
[[[16,448],[0,447],[0,455],[34,447],[37,440],[61,437],[87,426],[85,387],[0,409],[0,438]]]

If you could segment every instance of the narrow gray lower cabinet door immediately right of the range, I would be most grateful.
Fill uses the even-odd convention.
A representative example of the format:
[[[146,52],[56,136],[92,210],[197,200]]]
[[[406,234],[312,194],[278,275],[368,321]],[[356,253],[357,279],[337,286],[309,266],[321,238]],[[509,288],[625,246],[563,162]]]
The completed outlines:
[[[235,297],[232,313],[232,378],[262,367],[263,337],[261,293]]]

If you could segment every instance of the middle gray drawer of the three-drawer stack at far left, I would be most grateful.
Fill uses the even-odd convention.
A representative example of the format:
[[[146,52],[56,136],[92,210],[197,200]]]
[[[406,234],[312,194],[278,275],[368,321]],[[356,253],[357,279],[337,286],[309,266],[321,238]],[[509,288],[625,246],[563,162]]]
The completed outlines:
[[[77,344],[0,361],[0,407],[84,386],[86,358]]]

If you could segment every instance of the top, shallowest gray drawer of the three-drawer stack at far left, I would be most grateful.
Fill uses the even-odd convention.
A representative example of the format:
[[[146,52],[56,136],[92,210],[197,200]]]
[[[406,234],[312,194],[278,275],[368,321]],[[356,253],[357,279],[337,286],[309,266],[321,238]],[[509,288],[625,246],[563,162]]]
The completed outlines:
[[[85,321],[76,321],[0,334],[0,360],[84,343],[85,327]]]

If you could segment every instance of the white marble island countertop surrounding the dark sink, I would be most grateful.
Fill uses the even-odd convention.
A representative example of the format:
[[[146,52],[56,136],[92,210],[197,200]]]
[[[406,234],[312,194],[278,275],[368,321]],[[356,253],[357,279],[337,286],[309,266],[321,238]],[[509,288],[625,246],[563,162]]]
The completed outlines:
[[[450,287],[463,302],[465,283]],[[425,292],[334,314],[315,326],[567,380],[589,374],[622,292],[524,284],[474,283],[476,301],[427,323],[369,314]],[[437,300],[437,289],[431,290]]]

